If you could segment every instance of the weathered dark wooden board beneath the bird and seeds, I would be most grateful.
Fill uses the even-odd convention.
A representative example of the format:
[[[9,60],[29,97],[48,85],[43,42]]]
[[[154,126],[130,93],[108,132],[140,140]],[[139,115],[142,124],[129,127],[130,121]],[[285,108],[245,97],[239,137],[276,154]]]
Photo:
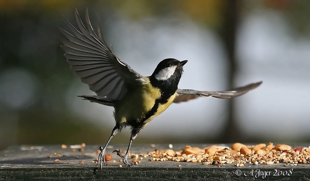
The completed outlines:
[[[174,150],[184,148],[186,144],[174,145]],[[193,145],[204,148],[208,145]],[[230,146],[230,145],[229,145]],[[98,157],[98,145],[86,145],[85,152],[73,152],[70,148],[54,146],[11,146],[0,152],[0,180],[310,180],[310,165],[284,166],[284,164],[252,165],[235,167],[202,165],[174,161],[148,161],[132,167],[119,167],[120,157],[113,153],[113,160],[102,170],[92,163]],[[107,154],[126,145],[114,145]],[[168,149],[168,145],[137,145],[132,153],[146,154],[154,149]],[[59,156],[54,155],[58,153]],[[56,162],[59,159],[60,162]],[[80,161],[84,163],[79,164]],[[131,159],[128,159],[130,161]],[[179,165],[181,165],[179,167]],[[266,177],[263,177],[266,175]]]

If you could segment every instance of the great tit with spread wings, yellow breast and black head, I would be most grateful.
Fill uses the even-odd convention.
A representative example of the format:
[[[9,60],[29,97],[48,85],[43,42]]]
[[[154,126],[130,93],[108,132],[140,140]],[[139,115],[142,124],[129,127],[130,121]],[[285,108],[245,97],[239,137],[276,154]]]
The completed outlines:
[[[183,73],[183,66],[188,60],[179,61],[173,58],[162,60],[153,74],[144,77],[133,70],[108,48],[102,38],[98,26],[98,34],[94,32],[86,9],[86,26],[75,9],[78,29],[66,20],[73,33],[64,29],[61,32],[68,40],[61,39],[61,47],[66,52],[64,56],[71,69],[88,84],[96,95],[79,95],[85,100],[114,107],[116,125],[111,136],[102,148],[98,163],[102,168],[105,164],[104,153],[110,140],[126,126],[131,128],[129,145],[125,155],[119,151],[125,166],[131,166],[127,161],[132,141],[138,133],[156,116],[166,110],[172,103],[179,103],[197,97],[232,98],[243,95],[259,86],[256,82],[230,91],[198,91],[178,89]]]

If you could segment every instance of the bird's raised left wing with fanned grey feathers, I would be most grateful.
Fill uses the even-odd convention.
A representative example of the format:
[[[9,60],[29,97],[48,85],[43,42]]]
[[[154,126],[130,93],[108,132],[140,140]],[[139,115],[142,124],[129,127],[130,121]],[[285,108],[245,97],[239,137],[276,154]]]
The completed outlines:
[[[66,52],[64,56],[75,74],[81,77],[83,83],[100,97],[109,100],[119,100],[126,94],[128,86],[145,83],[145,77],[129,67],[105,44],[98,25],[98,35],[94,32],[86,9],[87,29],[75,9],[78,28],[68,20],[67,24],[72,34],[60,28],[69,39],[61,39],[61,47]]]

